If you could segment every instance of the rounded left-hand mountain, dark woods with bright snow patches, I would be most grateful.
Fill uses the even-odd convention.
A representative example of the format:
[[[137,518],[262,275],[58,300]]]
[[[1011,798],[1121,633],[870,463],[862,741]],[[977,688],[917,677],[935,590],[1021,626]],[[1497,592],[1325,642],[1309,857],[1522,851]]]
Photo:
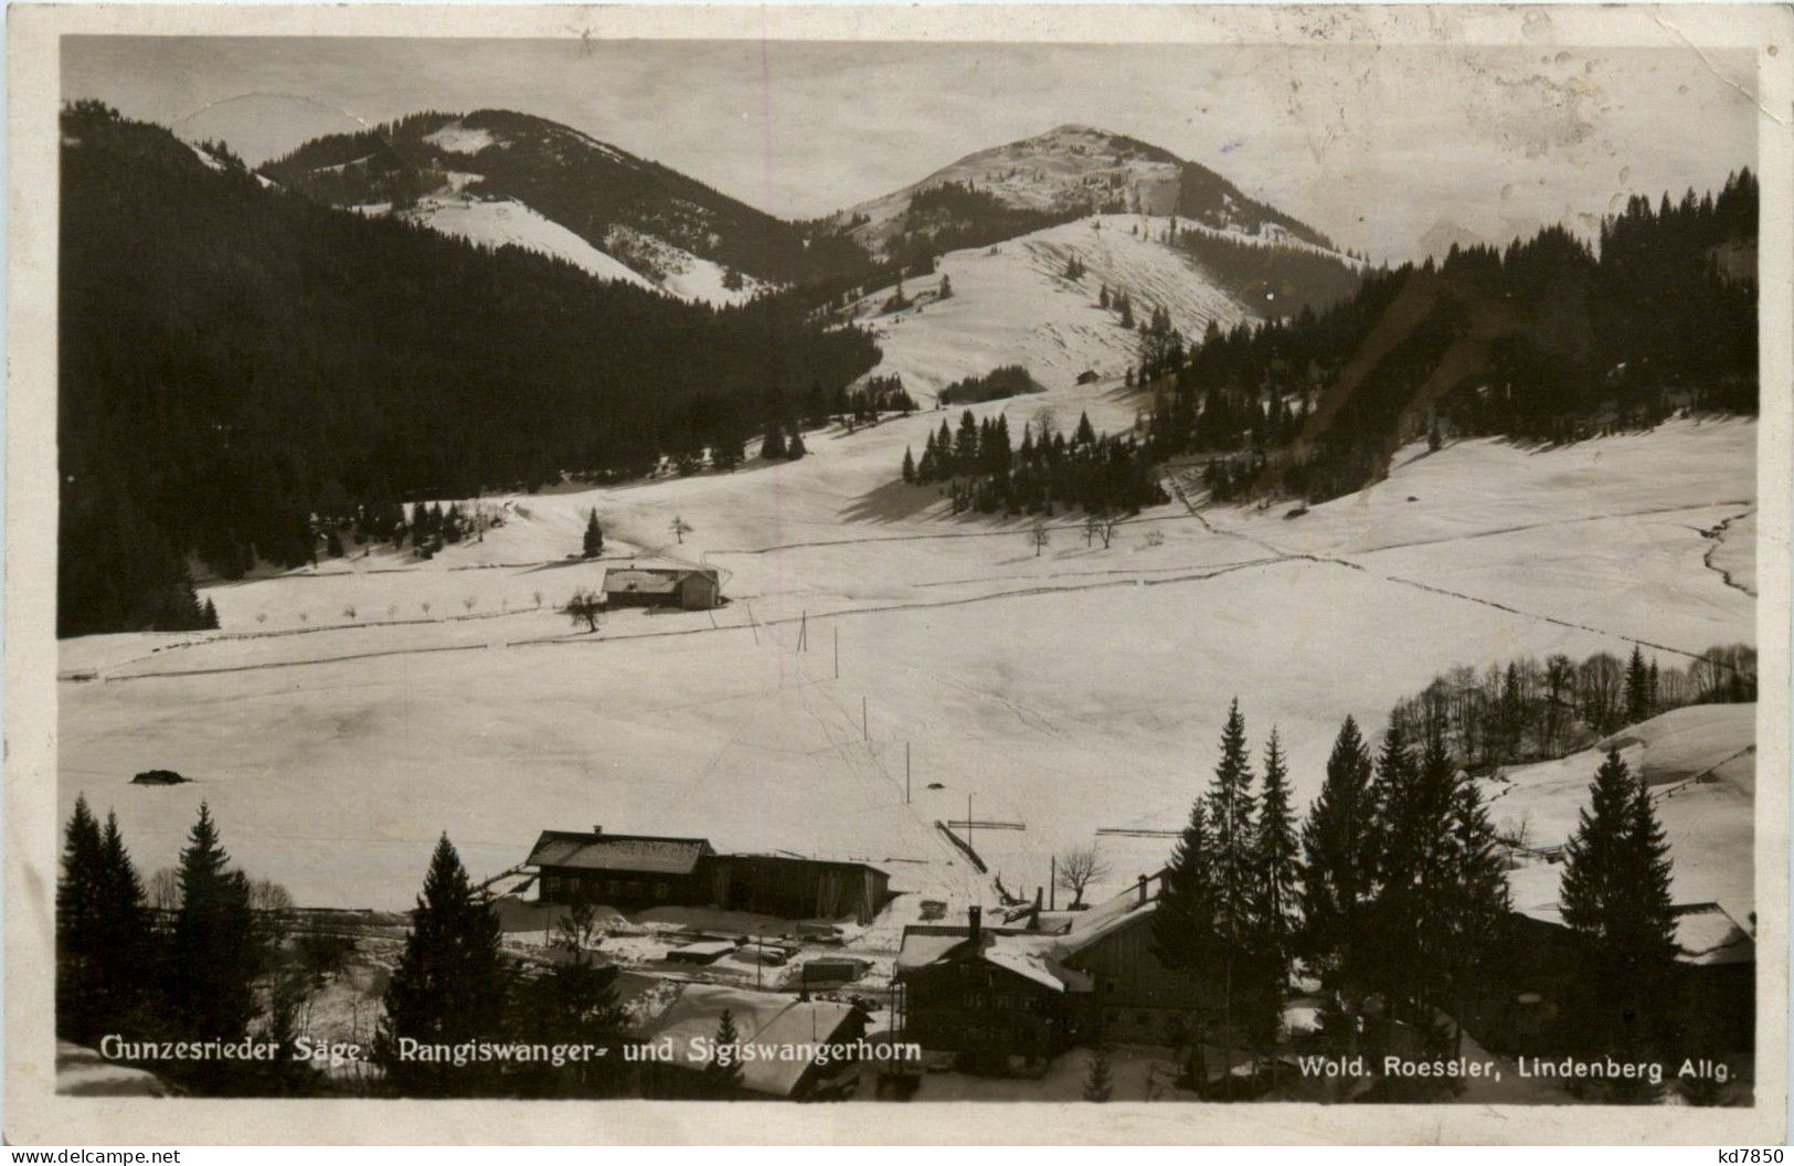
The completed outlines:
[[[262,172],[334,206],[527,248],[684,300],[739,303],[766,285],[813,278],[829,262],[789,222],[578,129],[506,109],[418,113],[318,138]],[[863,257],[847,257],[856,260]]]

